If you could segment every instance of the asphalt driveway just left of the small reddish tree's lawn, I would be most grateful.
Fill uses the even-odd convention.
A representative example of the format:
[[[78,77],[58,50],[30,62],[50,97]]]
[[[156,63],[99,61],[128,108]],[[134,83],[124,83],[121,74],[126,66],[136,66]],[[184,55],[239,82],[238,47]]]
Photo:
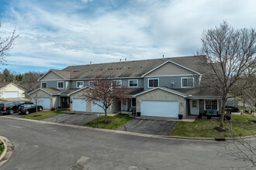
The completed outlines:
[[[65,112],[63,114],[58,114],[53,117],[48,117],[42,121],[50,121],[60,124],[74,124],[74,125],[84,125],[90,121],[97,118],[97,114],[81,114],[77,112]]]

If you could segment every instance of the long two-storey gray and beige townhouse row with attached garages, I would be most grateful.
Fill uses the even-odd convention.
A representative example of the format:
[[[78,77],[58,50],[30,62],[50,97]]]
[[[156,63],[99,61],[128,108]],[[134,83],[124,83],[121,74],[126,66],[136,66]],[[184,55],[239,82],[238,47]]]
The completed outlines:
[[[160,59],[97,63],[49,70],[40,77],[40,88],[29,93],[40,98],[45,109],[70,105],[71,110],[104,112],[84,100],[82,94],[99,74],[112,75],[116,86],[130,90],[126,100],[112,104],[110,113],[134,108],[141,115],[178,117],[198,115],[206,110],[220,114],[222,100],[218,93],[202,85],[209,77],[206,56],[182,56]],[[214,83],[214,82],[212,82]]]

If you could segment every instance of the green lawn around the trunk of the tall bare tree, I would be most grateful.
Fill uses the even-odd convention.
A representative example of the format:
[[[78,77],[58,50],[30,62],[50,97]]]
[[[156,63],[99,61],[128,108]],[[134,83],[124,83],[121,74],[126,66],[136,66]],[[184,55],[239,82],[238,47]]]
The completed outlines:
[[[251,115],[232,116],[233,122],[227,123],[238,136],[249,136],[256,134],[256,123]],[[194,122],[180,121],[175,129],[171,131],[171,136],[198,137],[198,138],[228,138],[229,132],[216,131],[214,128],[219,126],[216,120],[196,119]]]

